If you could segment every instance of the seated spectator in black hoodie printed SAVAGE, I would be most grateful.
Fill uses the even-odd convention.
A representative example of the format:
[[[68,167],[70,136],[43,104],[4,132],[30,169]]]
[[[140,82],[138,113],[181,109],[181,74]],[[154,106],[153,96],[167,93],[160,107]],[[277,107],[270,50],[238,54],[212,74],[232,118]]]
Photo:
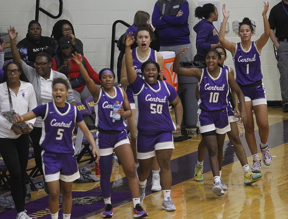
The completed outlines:
[[[52,39],[50,37],[42,36],[41,33],[42,29],[40,23],[36,20],[32,20],[28,25],[26,37],[17,44],[21,59],[33,68],[37,53],[48,47],[52,47]]]

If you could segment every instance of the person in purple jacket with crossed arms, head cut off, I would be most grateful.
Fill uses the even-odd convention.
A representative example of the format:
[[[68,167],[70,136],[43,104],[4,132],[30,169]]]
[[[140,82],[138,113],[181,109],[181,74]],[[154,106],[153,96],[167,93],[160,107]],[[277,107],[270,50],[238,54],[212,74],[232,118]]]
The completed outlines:
[[[174,51],[189,47],[180,62],[193,61],[188,26],[189,4],[186,0],[158,0],[152,14],[152,24],[160,36],[160,51]]]

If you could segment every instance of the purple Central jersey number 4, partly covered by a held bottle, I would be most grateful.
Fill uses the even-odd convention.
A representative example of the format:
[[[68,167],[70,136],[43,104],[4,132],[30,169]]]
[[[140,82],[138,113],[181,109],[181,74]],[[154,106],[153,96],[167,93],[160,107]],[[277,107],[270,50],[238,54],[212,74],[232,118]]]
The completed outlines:
[[[120,106],[123,106],[124,96],[120,87],[114,87],[114,90],[115,96],[110,96],[103,87],[101,88],[99,99],[94,103],[95,126],[103,130],[123,131],[126,127],[123,117],[113,122],[113,105],[119,101]]]

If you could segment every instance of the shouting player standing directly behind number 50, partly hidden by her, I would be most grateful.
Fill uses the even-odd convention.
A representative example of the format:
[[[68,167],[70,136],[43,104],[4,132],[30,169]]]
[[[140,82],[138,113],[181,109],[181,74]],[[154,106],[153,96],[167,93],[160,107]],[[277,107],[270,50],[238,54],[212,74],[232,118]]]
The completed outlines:
[[[160,65],[160,69],[163,69],[163,56],[156,52],[156,50],[151,49],[150,43],[154,38],[154,34],[152,29],[149,26],[138,27],[137,32],[135,33],[136,42],[138,44],[137,48],[132,49],[132,58],[133,58],[133,66],[137,75],[143,76],[141,72],[141,65],[147,60],[153,60]],[[161,71],[161,80],[163,79],[163,71]],[[134,154],[135,160],[135,168],[139,166],[137,160],[137,153],[136,153],[136,127],[135,127],[135,116],[136,116],[136,109],[135,109],[135,102],[133,98],[132,89],[129,86],[128,79],[127,79],[127,72],[126,72],[126,64],[125,64],[125,56],[123,57],[122,61],[122,69],[121,69],[121,85],[122,87],[126,87],[126,93],[128,96],[128,100],[132,109],[132,117],[128,118],[128,124],[131,134],[131,147]],[[160,168],[155,158],[153,160],[152,166],[152,188],[151,191],[157,192],[161,190],[160,185]]]

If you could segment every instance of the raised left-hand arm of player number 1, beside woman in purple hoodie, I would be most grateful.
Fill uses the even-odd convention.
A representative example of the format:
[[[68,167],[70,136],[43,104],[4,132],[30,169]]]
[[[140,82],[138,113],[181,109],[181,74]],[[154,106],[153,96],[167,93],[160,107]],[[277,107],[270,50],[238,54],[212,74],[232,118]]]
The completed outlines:
[[[219,39],[221,46],[223,46],[226,50],[229,50],[232,54],[232,57],[234,57],[235,50],[236,50],[236,44],[225,39],[226,24],[227,24],[228,18],[230,16],[230,11],[228,11],[228,12],[226,11],[226,5],[225,4],[223,4],[223,6],[222,6],[222,12],[223,12],[223,21],[222,21],[222,24],[220,27],[218,39]]]

